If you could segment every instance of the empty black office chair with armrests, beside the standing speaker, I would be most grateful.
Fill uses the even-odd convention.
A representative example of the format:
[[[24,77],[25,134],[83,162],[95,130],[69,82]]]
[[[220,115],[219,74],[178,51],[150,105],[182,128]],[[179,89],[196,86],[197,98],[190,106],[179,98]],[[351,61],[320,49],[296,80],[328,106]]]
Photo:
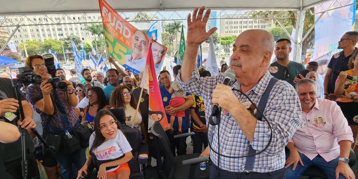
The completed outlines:
[[[208,161],[208,157],[200,157],[200,154],[185,154],[173,156],[170,151],[170,141],[163,127],[157,121],[151,127],[154,135],[154,146],[157,156],[157,173],[159,179],[207,179],[210,174],[210,164],[207,163],[205,170],[199,169],[199,163]],[[175,135],[174,138],[194,135],[194,132]],[[181,148],[181,147],[180,147]],[[160,159],[164,157],[164,160]]]

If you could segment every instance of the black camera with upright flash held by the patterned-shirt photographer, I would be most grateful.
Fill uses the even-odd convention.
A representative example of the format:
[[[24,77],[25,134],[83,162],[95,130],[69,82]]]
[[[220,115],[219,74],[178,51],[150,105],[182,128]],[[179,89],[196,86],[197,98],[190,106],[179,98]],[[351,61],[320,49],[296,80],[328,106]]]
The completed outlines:
[[[52,54],[43,55],[44,64],[46,66],[47,72],[50,74],[48,82],[52,84],[53,88],[58,89],[59,91],[66,91],[67,84],[62,81],[60,76],[56,75],[55,60]]]

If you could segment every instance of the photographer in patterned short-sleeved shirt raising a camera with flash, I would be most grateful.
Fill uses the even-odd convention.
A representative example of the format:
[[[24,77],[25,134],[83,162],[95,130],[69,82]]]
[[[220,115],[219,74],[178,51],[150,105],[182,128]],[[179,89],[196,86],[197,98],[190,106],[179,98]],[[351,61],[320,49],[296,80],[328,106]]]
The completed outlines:
[[[40,75],[43,80],[42,83],[33,83],[26,88],[26,98],[41,116],[42,128],[44,129],[43,137],[48,144],[50,143],[49,145],[54,145],[54,150],[57,153],[55,160],[61,166],[63,178],[72,179],[76,178],[77,171],[86,161],[86,150],[81,147],[73,147],[70,141],[74,137],[72,139],[65,135],[66,131],[73,135],[72,131],[81,122],[72,108],[72,106],[77,106],[77,98],[71,82],[62,80],[67,84],[67,90],[64,89],[63,91],[59,87],[54,88],[54,84],[49,83],[51,78],[54,77],[49,73],[55,73],[53,71],[48,72],[48,69],[55,70],[54,66],[53,68],[45,66],[44,61],[48,65],[50,64],[49,60],[49,58],[44,60],[41,55],[30,55],[26,59],[25,66],[31,67],[32,71]],[[53,167],[54,161],[44,159],[42,165]]]

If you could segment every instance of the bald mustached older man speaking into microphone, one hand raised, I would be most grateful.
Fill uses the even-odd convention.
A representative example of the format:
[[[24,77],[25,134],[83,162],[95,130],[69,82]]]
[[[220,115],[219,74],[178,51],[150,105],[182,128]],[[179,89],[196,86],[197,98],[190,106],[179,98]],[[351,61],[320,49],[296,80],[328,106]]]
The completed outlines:
[[[213,105],[222,108],[220,129],[215,126],[209,130],[213,134],[209,141],[212,150],[207,148],[202,154],[211,156],[210,178],[266,178],[268,175],[277,179],[284,178],[284,148],[301,122],[301,106],[292,85],[277,81],[268,72],[274,38],[265,30],[247,30],[237,37],[230,61],[236,79],[229,86],[221,84],[225,73],[199,78],[195,68],[199,45],[217,29],[206,32],[210,9],[203,18],[204,10],[204,6],[199,12],[195,8],[192,19],[188,15],[187,46],[183,66],[178,74],[180,78],[176,78],[176,81],[184,91],[204,98],[207,123]],[[265,120],[254,117],[256,110],[251,110],[253,113],[247,110],[251,107],[250,101],[240,92],[232,91],[232,88],[245,93],[256,105],[267,89],[267,105],[264,103],[265,110],[262,112],[272,126],[272,133]],[[248,155],[250,148],[253,154],[262,151],[269,144],[270,135],[270,145],[254,158],[233,158]]]

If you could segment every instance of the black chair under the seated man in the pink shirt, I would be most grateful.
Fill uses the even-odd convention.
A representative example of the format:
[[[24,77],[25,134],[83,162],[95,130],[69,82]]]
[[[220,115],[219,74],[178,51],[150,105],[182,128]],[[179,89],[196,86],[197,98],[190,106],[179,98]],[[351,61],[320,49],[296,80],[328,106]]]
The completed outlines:
[[[286,156],[289,155],[290,155],[289,150],[286,149]],[[355,161],[356,161],[356,155],[353,149],[350,149],[348,165],[352,168],[352,166],[355,164]],[[326,175],[317,166],[311,166],[310,168],[308,168],[303,172],[302,176],[308,176],[309,178],[321,178],[321,179],[327,178]]]

